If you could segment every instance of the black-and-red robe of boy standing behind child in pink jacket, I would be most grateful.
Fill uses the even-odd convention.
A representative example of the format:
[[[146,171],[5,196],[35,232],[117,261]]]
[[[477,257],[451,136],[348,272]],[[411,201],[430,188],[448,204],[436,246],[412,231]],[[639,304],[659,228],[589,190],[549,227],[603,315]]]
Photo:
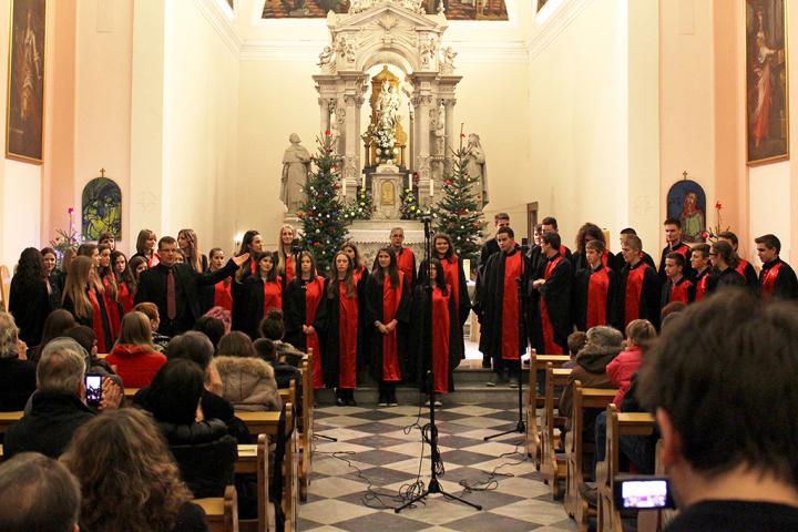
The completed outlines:
[[[641,272],[641,268],[644,268]],[[630,276],[642,276],[640,286],[635,287],[628,283]],[[637,291],[635,291],[635,288]],[[634,266],[627,264],[621,270],[618,282],[618,297],[615,326],[618,330],[626,330],[626,325],[633,319],[647,319],[654,327],[659,329],[659,277],[643,260]],[[626,315],[627,301],[631,315]]]

